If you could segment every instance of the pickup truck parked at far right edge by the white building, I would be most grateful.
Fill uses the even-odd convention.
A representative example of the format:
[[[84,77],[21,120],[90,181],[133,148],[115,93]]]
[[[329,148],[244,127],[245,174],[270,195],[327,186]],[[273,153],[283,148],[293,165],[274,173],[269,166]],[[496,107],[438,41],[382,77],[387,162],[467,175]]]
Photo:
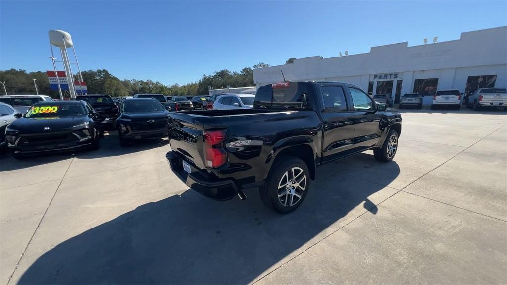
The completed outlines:
[[[479,88],[472,95],[468,96],[467,107],[479,110],[482,107],[501,107],[507,111],[507,92],[505,88]]]

